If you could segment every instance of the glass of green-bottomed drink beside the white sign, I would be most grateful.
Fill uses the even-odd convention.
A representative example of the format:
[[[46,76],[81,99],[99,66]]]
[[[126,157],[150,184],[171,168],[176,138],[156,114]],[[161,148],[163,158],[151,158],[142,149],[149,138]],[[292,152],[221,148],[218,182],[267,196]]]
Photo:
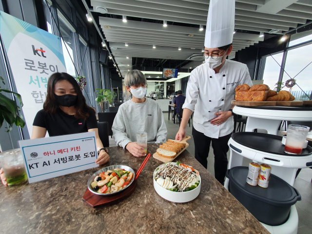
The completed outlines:
[[[0,167],[3,169],[6,182],[9,186],[27,181],[27,174],[20,149],[2,152],[0,154]]]

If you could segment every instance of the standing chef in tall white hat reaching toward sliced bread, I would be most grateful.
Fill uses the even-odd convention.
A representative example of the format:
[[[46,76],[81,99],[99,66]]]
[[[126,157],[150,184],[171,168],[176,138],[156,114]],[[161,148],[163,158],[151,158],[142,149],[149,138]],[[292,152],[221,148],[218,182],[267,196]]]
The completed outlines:
[[[215,155],[215,178],[224,185],[229,151],[228,141],[234,129],[235,88],[252,86],[248,67],[226,59],[232,52],[234,0],[210,0],[205,36],[205,63],[192,72],[186,89],[183,118],[176,139],[185,136],[185,128],[194,111],[193,137],[195,158],[207,168],[210,143]]]

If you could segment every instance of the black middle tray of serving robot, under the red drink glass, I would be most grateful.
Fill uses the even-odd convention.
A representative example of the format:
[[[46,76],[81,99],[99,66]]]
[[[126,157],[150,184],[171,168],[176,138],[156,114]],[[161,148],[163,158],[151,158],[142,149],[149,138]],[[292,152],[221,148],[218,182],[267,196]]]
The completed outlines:
[[[232,134],[232,138],[243,146],[270,154],[285,156],[309,156],[312,154],[312,148],[309,145],[302,150],[300,155],[290,155],[285,153],[285,145],[282,144],[282,137],[276,135],[240,132]],[[231,148],[233,149],[233,147]]]

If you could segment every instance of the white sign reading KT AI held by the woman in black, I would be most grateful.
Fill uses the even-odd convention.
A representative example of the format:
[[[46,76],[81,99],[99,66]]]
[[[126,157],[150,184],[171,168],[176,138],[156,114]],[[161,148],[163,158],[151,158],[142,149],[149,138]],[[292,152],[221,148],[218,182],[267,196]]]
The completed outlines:
[[[29,183],[97,167],[95,132],[20,140]]]

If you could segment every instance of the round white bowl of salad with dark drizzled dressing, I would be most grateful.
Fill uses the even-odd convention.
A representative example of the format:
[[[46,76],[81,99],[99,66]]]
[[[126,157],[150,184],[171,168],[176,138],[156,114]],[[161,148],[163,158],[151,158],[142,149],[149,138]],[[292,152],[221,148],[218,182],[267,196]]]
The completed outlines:
[[[189,202],[200,193],[201,178],[198,171],[180,162],[158,166],[153,181],[156,193],[168,201]]]

